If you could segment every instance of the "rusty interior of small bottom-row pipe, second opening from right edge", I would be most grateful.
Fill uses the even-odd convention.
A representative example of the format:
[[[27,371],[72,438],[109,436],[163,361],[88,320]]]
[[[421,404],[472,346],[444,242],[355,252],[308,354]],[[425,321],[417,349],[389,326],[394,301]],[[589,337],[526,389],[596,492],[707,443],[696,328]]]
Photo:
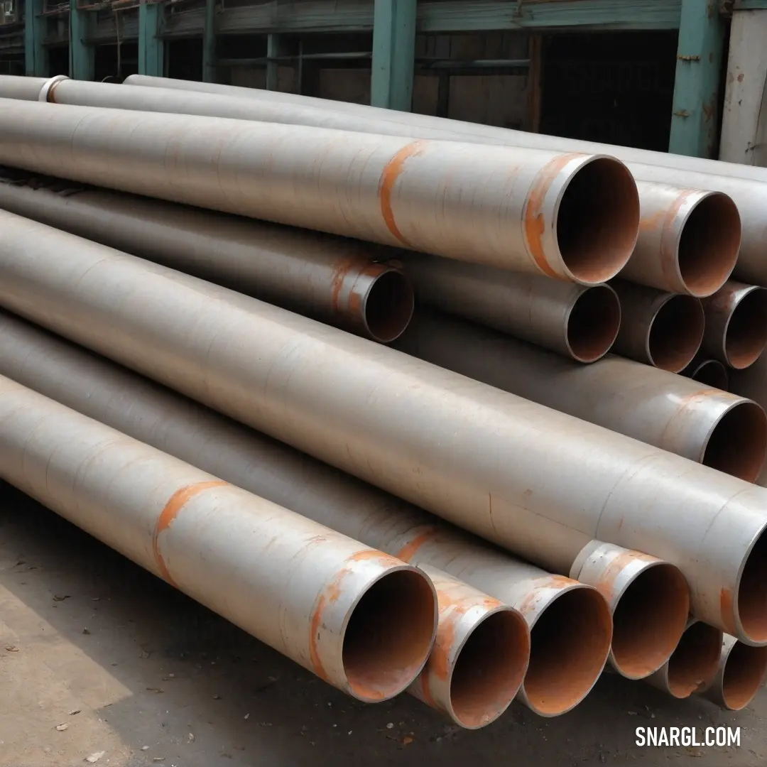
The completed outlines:
[[[669,660],[669,691],[675,698],[688,698],[709,686],[719,668],[722,632],[696,621],[682,634]]]

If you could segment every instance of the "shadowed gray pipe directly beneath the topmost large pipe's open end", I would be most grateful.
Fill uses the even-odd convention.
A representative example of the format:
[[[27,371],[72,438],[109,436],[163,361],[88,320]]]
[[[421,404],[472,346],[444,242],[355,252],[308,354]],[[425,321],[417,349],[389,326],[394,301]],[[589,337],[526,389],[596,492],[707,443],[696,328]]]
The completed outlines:
[[[604,357],[621,327],[621,304],[609,285],[575,285],[422,253],[401,258],[420,301],[580,362]]]

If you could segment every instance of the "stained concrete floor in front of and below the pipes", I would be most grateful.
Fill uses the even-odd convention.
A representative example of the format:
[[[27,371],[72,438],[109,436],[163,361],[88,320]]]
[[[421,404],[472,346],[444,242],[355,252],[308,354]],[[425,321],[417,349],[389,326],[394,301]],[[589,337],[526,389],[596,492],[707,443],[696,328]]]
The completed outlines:
[[[257,609],[257,606],[255,606]],[[637,726],[731,724],[739,749],[637,748]],[[57,729],[64,726],[64,729]],[[410,696],[365,706],[0,485],[0,767],[767,763],[767,694],[729,714],[605,677],[573,712],[479,732]]]

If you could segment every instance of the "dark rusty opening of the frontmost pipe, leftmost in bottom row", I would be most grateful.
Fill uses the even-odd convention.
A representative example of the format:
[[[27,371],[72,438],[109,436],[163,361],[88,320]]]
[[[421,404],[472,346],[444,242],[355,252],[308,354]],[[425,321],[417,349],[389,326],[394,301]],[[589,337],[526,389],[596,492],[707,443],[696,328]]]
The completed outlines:
[[[344,672],[360,700],[402,692],[429,657],[436,624],[430,581],[420,571],[395,570],[365,592],[344,631]]]

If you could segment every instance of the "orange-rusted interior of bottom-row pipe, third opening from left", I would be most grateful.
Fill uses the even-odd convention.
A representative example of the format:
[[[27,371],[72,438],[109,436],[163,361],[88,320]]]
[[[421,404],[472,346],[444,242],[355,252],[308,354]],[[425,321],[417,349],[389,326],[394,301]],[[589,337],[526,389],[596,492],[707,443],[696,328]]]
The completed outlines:
[[[525,693],[544,716],[557,716],[588,694],[610,651],[612,619],[596,589],[562,592],[532,627]]]

